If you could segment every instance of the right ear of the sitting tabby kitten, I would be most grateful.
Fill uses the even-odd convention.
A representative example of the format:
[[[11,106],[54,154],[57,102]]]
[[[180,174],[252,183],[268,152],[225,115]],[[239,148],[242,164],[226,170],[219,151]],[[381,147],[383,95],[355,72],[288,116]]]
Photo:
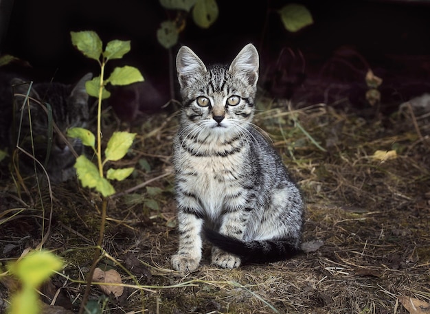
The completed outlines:
[[[258,80],[258,52],[256,47],[249,43],[240,50],[229,67],[234,75],[245,76],[250,85],[257,85]]]

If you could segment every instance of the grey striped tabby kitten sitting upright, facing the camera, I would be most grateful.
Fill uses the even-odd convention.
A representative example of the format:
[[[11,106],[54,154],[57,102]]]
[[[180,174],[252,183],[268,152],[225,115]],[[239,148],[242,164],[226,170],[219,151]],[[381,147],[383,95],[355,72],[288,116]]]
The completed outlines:
[[[223,268],[297,254],[304,202],[251,123],[256,47],[246,45],[229,67],[206,67],[181,47],[176,63],[183,108],[173,145],[179,227],[173,269],[199,267],[202,232],[214,245],[212,263]]]

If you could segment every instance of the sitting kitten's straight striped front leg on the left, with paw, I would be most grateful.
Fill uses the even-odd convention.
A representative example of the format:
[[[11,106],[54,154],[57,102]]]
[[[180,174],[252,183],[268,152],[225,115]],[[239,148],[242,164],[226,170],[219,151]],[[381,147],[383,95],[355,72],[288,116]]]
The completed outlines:
[[[170,260],[172,268],[181,272],[194,271],[201,260],[201,229],[203,219],[194,214],[178,213],[179,249]]]

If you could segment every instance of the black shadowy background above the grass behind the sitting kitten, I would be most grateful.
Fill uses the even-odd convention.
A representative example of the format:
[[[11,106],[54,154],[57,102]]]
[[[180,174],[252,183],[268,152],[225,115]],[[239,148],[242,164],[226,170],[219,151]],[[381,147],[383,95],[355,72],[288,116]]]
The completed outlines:
[[[0,1],[4,4],[7,0]],[[385,76],[417,80],[430,77],[429,1],[295,2],[306,5],[314,19],[313,25],[296,34],[284,29],[276,12],[288,1],[218,0],[219,16],[214,25],[200,29],[189,16],[179,35],[179,45],[189,45],[205,62],[212,63],[229,62],[243,45],[254,43],[261,55],[262,73],[291,69],[287,80],[293,85],[295,80],[302,84],[293,72],[299,71],[294,63],[303,68],[303,60],[291,58],[288,64],[280,65],[278,57],[283,48],[303,54],[307,78],[318,73],[333,56],[340,54],[352,62],[351,53],[376,71],[383,69]],[[150,87],[146,95],[157,94],[140,106],[157,109],[171,97],[169,75],[173,72],[169,63],[179,45],[169,54],[157,42],[156,32],[162,21],[175,16],[176,12],[163,9],[157,0],[15,0],[1,52],[30,63],[31,75],[36,79],[54,77],[71,82],[88,71],[98,73],[98,65],[72,47],[71,30],[94,30],[104,43],[131,40],[131,52],[124,60],[112,61],[111,66],[139,68]],[[325,73],[332,76],[335,72],[332,69]],[[270,87],[271,73],[262,76],[260,84]],[[343,76],[343,80],[354,79]],[[275,96],[290,97],[291,91]]]

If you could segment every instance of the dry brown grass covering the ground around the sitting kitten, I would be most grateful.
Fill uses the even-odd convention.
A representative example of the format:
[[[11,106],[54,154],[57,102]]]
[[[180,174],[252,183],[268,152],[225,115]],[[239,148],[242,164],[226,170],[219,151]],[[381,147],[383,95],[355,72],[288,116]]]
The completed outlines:
[[[400,314],[408,313],[400,295],[428,302],[428,121],[411,115],[366,121],[330,106],[291,110],[268,100],[259,107],[264,111],[256,124],[269,133],[306,197],[304,240],[323,240],[324,246],[284,262],[233,270],[209,265],[206,248],[198,271],[186,276],[171,271],[177,235],[170,147],[177,120],[153,115],[133,130],[139,137],[122,161],[137,164],[137,170],[117,190],[132,190],[109,203],[103,248],[111,258],[100,264],[115,267],[131,287],[109,302],[106,313]],[[376,150],[396,150],[396,156],[381,160]],[[57,280],[76,309],[98,234],[99,199],[74,181],[54,187],[52,194],[44,246],[65,257],[69,279]],[[1,221],[3,265],[40,243],[41,221],[49,217],[40,204],[51,202],[48,193],[42,195],[42,200],[36,194],[19,198],[12,181],[3,184],[0,221],[14,212],[7,210],[24,208],[12,221]],[[140,262],[133,264],[133,257]],[[0,291],[8,298],[6,289]],[[92,294],[97,298],[101,292],[94,287]]]

